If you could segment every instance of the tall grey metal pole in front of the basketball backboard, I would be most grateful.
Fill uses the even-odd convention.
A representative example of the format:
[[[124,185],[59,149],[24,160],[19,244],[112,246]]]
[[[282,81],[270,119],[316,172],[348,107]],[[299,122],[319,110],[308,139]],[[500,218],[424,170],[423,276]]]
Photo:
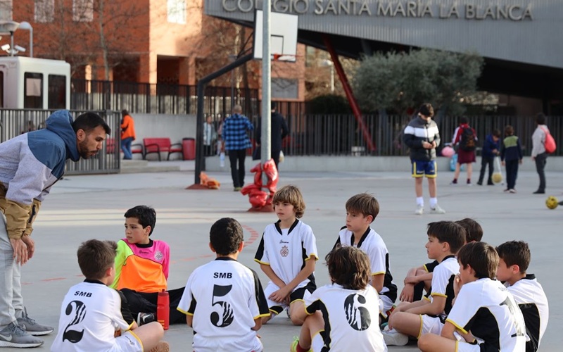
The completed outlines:
[[[262,8],[262,140],[260,141],[260,153],[262,165],[270,160],[272,154],[272,138],[270,132],[272,130],[272,109],[270,107],[271,96],[271,80],[272,67],[270,65],[270,4],[271,0],[263,1]],[[267,184],[268,178],[262,172],[262,184]]]

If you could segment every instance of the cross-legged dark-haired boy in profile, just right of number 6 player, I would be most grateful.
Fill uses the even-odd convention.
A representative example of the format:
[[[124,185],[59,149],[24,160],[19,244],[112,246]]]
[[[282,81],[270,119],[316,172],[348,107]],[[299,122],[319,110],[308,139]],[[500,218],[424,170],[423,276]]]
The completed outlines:
[[[404,346],[409,336],[440,334],[450,313],[454,298],[453,281],[460,272],[455,254],[465,244],[465,230],[452,221],[428,224],[428,258],[438,262],[432,276],[429,298],[412,303],[400,303],[389,318],[389,330],[383,332],[387,346]]]

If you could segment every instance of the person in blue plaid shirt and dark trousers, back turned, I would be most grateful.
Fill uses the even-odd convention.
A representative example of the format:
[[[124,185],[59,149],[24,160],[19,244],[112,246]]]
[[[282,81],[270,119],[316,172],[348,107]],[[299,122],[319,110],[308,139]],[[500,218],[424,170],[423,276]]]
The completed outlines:
[[[244,186],[244,173],[246,171],[244,169],[244,160],[246,158],[246,149],[251,147],[251,139],[248,138],[246,132],[252,130],[254,130],[254,125],[245,115],[242,115],[242,106],[235,105],[233,107],[233,114],[224,120],[222,128],[222,149],[229,153],[234,191],[240,191]]]

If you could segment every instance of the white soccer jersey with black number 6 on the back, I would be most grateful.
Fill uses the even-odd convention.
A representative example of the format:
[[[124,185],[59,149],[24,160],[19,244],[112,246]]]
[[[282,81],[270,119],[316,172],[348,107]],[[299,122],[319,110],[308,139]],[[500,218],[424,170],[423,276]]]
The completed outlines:
[[[370,285],[357,291],[327,284],[305,298],[307,314],[317,310],[322,313],[322,351],[387,351],[379,329],[378,307],[379,295]]]

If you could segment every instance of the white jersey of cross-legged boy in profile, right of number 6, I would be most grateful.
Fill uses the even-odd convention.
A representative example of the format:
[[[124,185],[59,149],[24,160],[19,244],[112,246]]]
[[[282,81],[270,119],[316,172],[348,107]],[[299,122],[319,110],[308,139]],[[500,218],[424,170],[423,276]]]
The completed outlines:
[[[453,281],[455,279],[455,275],[459,273],[460,264],[457,263],[455,256],[445,257],[442,262],[434,268],[430,300],[434,299],[434,296],[445,297],[444,311],[438,314],[442,321],[452,309],[452,300],[455,296],[453,291]]]

